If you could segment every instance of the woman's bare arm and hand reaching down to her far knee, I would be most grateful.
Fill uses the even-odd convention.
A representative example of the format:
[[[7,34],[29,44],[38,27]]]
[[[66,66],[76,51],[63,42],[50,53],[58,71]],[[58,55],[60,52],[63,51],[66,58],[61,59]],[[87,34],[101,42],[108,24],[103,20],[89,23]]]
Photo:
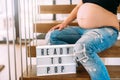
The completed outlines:
[[[79,7],[83,4],[82,0],[80,0],[79,4],[76,5],[76,7],[72,10],[72,12],[70,13],[70,15],[61,23],[61,24],[58,24],[54,27],[52,27],[50,29],[51,30],[54,30],[54,29],[58,29],[58,30],[62,30],[63,28],[65,28],[68,24],[70,24],[74,19],[76,19],[76,16],[77,16],[77,12],[78,12],[78,9]]]

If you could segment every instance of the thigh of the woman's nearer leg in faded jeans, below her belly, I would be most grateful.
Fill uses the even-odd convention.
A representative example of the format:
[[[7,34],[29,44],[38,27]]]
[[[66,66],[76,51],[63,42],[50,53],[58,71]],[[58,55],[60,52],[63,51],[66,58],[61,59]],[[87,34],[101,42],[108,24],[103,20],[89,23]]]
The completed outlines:
[[[117,40],[118,33],[110,27],[91,29],[86,31],[76,42],[76,45],[85,44],[86,48],[99,53],[110,48]]]

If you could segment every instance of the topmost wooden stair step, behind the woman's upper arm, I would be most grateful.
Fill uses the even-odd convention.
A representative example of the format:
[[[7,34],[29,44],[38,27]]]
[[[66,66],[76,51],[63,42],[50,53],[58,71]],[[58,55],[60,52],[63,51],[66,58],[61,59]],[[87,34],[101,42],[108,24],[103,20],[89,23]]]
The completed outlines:
[[[38,11],[40,14],[68,14],[76,5],[40,5]],[[120,6],[118,7],[120,13]]]

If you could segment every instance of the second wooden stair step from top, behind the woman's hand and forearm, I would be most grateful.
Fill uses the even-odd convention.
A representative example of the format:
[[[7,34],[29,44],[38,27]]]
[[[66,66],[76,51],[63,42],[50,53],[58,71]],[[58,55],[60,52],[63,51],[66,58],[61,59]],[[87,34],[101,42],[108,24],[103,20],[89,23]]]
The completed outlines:
[[[60,23],[62,23],[62,21],[52,21],[52,20],[38,21],[34,24],[34,32],[47,33],[50,30],[50,28]],[[69,25],[78,26],[76,21],[73,21]]]

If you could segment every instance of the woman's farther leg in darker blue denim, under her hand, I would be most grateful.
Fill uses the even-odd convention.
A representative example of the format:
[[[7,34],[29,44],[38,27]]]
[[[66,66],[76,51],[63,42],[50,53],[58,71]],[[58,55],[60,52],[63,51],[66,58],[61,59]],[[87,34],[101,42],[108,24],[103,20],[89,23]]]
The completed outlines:
[[[82,35],[80,27],[68,27],[63,30],[54,30],[50,34],[50,44],[74,44]]]

